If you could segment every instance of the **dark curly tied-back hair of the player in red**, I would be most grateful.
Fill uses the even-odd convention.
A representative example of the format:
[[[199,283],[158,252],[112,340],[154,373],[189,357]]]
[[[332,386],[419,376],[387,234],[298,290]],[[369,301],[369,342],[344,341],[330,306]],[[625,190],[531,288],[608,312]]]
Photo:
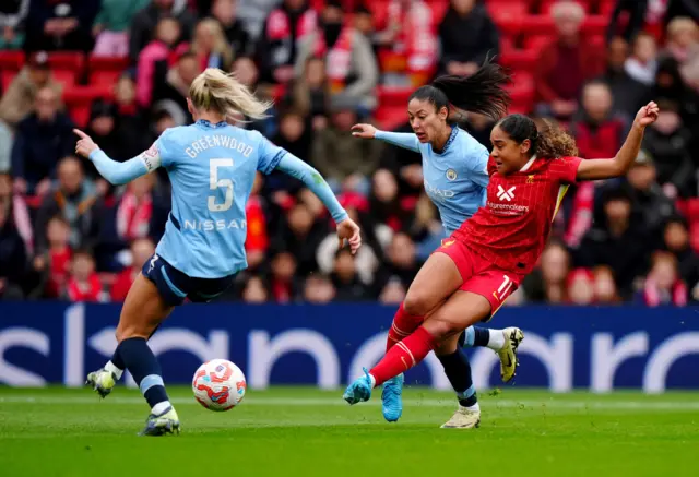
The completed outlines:
[[[510,115],[498,127],[518,144],[529,140],[532,144],[530,157],[536,154],[540,158],[557,159],[578,155],[576,140],[548,120],[544,120],[544,127],[540,131],[533,119],[524,115]]]

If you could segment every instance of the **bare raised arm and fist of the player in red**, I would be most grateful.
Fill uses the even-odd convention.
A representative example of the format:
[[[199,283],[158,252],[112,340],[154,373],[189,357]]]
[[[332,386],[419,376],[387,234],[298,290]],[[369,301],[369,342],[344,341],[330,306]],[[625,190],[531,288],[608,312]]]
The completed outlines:
[[[636,115],[631,130],[624,145],[619,152],[616,153],[616,156],[611,159],[588,159],[581,162],[578,167],[578,179],[609,179],[625,175],[631,167],[631,164],[633,164],[633,160],[636,160],[636,156],[638,156],[645,127],[655,122],[659,112],[660,109],[654,102],[650,102],[643,106]]]

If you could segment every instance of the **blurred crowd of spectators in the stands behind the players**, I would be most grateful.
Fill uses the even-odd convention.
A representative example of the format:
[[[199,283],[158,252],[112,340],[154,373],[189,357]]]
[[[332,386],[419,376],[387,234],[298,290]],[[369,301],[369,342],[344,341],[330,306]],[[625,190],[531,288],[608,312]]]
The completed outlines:
[[[514,8],[549,25],[545,41],[507,35]],[[591,14],[606,35],[588,36]],[[360,224],[353,257],[300,182],[258,177],[250,267],[222,299],[396,303],[445,232],[419,155],[351,127],[410,131],[404,104],[387,114],[386,92],[470,75],[488,53],[509,67],[529,46],[534,61],[512,91],[529,84],[531,100],[513,110],[568,128],[581,157],[613,157],[649,99],[661,115],[627,177],[571,189],[541,266],[508,305],[699,301],[698,21],[691,0],[3,0],[0,55],[23,50],[26,62],[0,97],[0,299],[123,300],[170,207],[164,171],[114,188],[74,156],[56,51],[128,58],[79,123],[116,160],[191,123],[187,92],[204,68],[236,73],[275,107],[230,121],[308,160]],[[493,122],[467,121],[490,147]]]

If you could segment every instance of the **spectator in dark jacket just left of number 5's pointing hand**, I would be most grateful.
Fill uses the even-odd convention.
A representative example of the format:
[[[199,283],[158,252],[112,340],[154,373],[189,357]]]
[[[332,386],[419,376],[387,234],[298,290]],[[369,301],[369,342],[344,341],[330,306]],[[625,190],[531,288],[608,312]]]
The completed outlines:
[[[59,98],[49,86],[36,94],[35,111],[17,124],[12,145],[12,175],[21,193],[49,191],[59,159],[75,148],[73,122],[58,110]]]

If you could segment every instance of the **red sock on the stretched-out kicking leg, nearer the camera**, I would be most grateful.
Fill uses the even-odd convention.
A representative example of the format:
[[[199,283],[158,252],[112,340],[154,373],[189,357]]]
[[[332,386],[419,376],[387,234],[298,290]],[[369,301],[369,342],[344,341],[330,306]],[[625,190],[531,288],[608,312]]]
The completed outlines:
[[[383,384],[403,371],[420,362],[437,345],[437,339],[423,326],[387,351],[383,359],[369,373],[376,379],[376,386]]]

